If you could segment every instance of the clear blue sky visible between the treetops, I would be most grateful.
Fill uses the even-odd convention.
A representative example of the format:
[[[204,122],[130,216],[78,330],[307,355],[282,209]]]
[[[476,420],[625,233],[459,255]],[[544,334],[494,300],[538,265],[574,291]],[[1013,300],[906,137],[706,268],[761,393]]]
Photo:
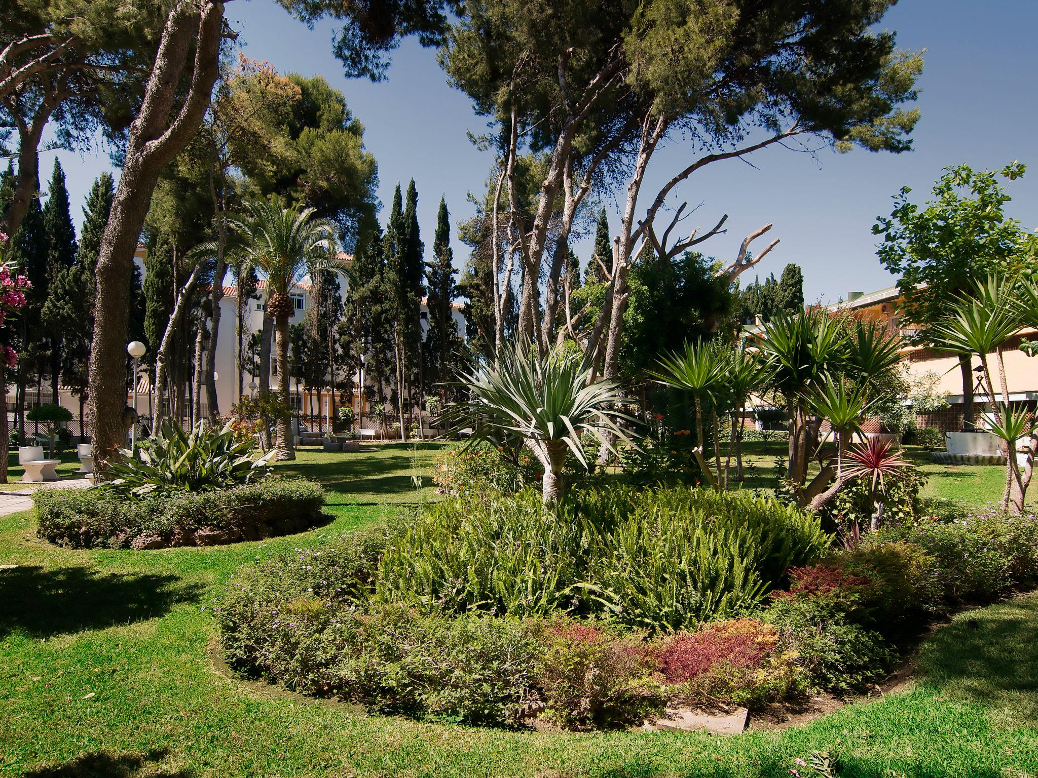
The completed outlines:
[[[364,123],[364,140],[379,164],[379,197],[388,207],[397,182],[413,177],[418,188],[422,238],[432,244],[440,195],[457,224],[473,212],[466,195],[483,188],[491,158],[469,143],[466,133],[482,133],[484,120],[468,100],[452,89],[435,52],[415,41],[392,56],[389,78],[381,83],[348,80],[331,55],[332,25],[307,29],[271,0],[227,5],[227,18],[241,33],[245,54],[267,59],[281,73],[321,74],[346,94]],[[1035,167],[1009,184],[1010,215],[1029,229],[1038,227],[1038,28],[1036,0],[901,0],[883,21],[898,32],[903,49],[926,49],[919,107],[923,118],[914,150],[902,155],[823,150],[817,159],[783,148],[710,165],[689,179],[670,204],[698,205],[689,226],[712,226],[729,214],[727,234],[701,248],[719,259],[734,256],[742,238],[771,222],[782,243],[762,260],[762,273],[777,275],[789,261],[804,271],[809,301],[835,301],[850,290],[869,291],[893,279],[875,256],[871,232],[875,217],[889,214],[891,197],[902,186],[922,200],[948,165],[1001,168],[1014,160]],[[40,160],[48,178],[52,155],[65,167],[74,206],[82,203],[93,178],[110,169],[102,154],[49,152]],[[691,151],[672,143],[657,152],[644,192],[656,189],[686,164]],[[116,173],[117,174],[117,173]],[[616,228],[617,201],[603,198]],[[694,223],[694,224],[693,224]],[[591,238],[575,245],[582,259]],[[455,239],[455,265],[467,247]]]

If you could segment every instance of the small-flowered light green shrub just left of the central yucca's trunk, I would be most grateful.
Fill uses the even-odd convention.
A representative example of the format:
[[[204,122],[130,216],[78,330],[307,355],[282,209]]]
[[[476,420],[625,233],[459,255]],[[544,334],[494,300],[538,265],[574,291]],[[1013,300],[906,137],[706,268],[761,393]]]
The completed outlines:
[[[520,451],[510,462],[489,443],[454,448],[433,460],[433,483],[441,495],[460,497],[488,491],[518,492],[540,477],[532,457]]]

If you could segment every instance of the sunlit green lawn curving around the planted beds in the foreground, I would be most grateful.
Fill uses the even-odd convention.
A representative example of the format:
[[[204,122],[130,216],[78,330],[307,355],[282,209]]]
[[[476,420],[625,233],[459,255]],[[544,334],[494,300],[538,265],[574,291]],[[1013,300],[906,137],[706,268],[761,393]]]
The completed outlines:
[[[924,645],[904,691],[731,738],[419,723],[221,672],[210,608],[234,571],[435,499],[426,468],[438,447],[302,452],[278,468],[334,489],[334,520],[263,543],[66,551],[35,538],[31,515],[0,518],[0,564],[19,565],[0,571],[0,775],[788,778],[812,749],[862,778],[1038,772],[1038,595],[957,617]]]

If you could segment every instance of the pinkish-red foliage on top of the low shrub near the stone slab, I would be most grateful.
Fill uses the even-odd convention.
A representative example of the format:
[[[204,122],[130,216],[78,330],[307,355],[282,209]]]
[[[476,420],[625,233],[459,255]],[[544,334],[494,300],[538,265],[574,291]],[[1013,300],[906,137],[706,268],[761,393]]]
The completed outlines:
[[[660,655],[663,677],[681,684],[721,663],[756,669],[778,643],[778,631],[753,618],[721,621],[696,633],[674,636]]]

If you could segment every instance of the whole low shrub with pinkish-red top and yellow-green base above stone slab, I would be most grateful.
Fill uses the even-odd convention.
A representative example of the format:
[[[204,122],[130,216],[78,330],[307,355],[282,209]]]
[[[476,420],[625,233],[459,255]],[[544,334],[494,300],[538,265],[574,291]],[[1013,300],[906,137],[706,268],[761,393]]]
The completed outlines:
[[[679,633],[661,651],[663,676],[699,705],[759,707],[796,689],[797,673],[791,657],[776,650],[778,639],[777,629],[752,618]]]

